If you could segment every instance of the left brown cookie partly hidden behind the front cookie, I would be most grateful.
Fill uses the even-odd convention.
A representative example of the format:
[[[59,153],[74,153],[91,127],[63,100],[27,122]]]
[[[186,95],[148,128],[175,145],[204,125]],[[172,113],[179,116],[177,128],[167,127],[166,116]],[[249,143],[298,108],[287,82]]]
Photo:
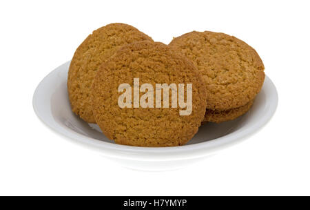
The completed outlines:
[[[74,53],[68,73],[69,99],[76,115],[95,123],[90,95],[96,70],[121,46],[143,40],[152,38],[127,24],[112,23],[95,30],[83,41]]]

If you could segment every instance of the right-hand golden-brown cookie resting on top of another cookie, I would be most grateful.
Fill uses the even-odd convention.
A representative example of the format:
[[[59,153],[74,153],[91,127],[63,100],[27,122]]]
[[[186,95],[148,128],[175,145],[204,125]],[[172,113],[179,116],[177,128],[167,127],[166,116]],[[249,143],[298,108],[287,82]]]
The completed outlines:
[[[207,86],[207,108],[244,106],[265,79],[262,60],[245,42],[218,32],[189,32],[169,46],[194,62]]]

